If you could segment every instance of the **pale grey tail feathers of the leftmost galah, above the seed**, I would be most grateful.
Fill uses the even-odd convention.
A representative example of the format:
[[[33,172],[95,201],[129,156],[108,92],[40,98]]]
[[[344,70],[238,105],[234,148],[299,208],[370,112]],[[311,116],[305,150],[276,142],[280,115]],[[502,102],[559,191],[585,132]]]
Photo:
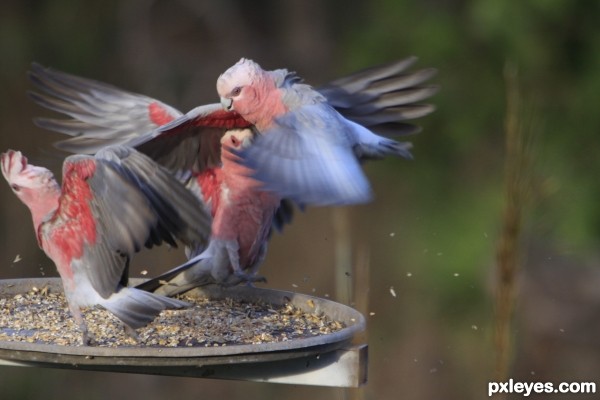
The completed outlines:
[[[163,310],[190,306],[189,303],[181,300],[130,287],[121,288],[101,305],[133,329],[148,325]]]

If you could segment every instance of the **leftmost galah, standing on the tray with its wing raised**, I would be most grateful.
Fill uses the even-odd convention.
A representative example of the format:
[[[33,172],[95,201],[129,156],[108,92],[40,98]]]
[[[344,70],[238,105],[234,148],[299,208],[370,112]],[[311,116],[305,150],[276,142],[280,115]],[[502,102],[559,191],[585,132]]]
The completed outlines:
[[[162,310],[187,306],[127,287],[129,260],[143,246],[208,241],[210,216],[163,167],[133,149],[108,147],[95,156],[68,157],[60,186],[21,152],[9,150],[0,162],[31,211],[39,246],[56,265],[84,344],[91,338],[83,307],[107,309],[135,336]]]

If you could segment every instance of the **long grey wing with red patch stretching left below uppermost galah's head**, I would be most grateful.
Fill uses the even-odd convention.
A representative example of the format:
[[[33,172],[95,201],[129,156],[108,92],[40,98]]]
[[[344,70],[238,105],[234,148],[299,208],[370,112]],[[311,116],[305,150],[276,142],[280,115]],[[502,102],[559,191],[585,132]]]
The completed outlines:
[[[31,92],[42,107],[71,119],[36,118],[36,125],[71,136],[59,149],[94,154],[110,145],[135,147],[172,171],[202,171],[220,163],[220,138],[227,129],[250,124],[220,104],[185,115],[150,97],[39,64],[29,72],[44,94]]]

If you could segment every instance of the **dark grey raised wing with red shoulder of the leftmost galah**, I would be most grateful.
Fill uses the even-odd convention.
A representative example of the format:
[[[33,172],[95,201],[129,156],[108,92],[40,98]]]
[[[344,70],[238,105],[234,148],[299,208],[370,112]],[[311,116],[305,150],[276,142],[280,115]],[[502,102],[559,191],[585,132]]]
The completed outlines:
[[[208,242],[211,219],[198,199],[133,149],[109,147],[95,157],[67,158],[58,213],[63,219],[73,211],[73,197],[80,201],[77,218],[88,228],[80,268],[105,298],[126,282],[128,260],[144,245]]]

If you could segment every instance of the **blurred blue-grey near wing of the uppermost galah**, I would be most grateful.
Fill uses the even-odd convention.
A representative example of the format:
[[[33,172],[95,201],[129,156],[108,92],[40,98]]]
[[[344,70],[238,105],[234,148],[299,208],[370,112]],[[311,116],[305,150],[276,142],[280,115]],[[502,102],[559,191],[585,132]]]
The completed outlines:
[[[371,199],[370,185],[354,155],[351,126],[327,104],[289,111],[236,151],[264,190],[300,205],[343,205]]]

